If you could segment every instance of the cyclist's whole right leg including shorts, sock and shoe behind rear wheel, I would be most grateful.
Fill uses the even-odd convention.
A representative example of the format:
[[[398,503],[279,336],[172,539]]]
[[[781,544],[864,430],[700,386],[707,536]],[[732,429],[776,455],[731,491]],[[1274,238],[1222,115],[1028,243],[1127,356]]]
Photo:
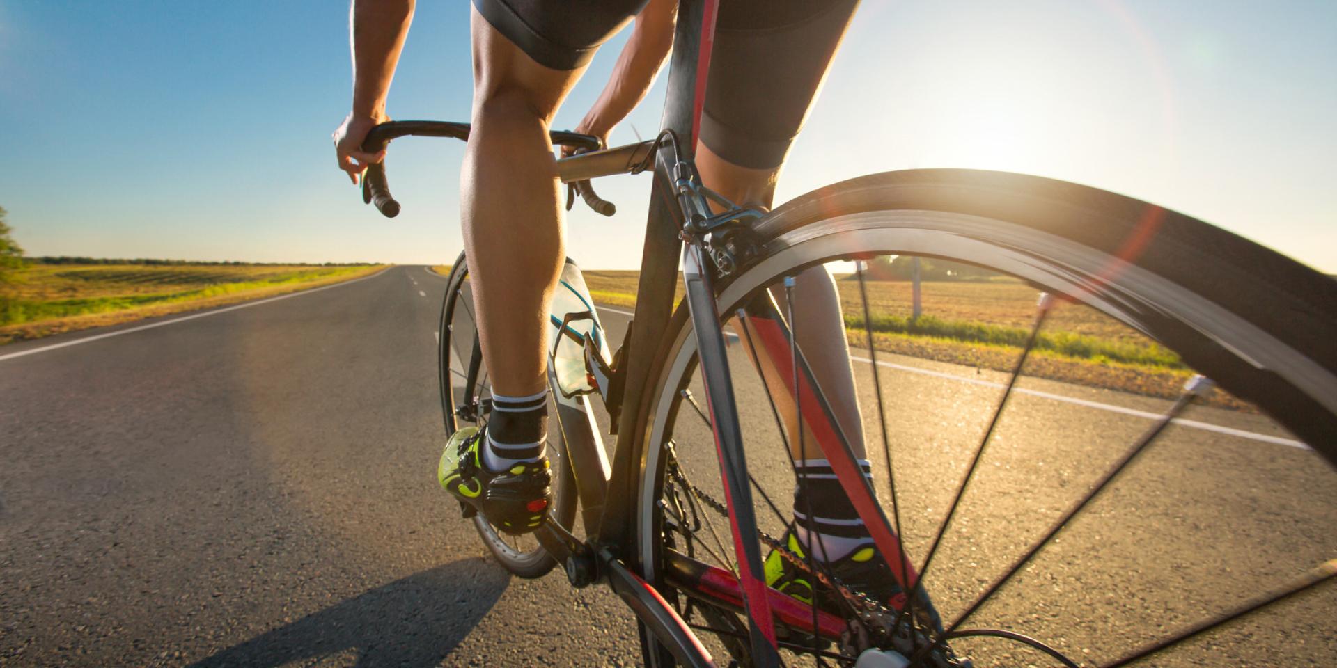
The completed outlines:
[[[785,155],[798,134],[832,57],[857,5],[853,0],[832,4],[777,3],[770,12],[739,7],[731,13],[721,7],[719,27],[711,55],[710,80],[702,114],[697,166],[707,186],[749,204],[770,206]],[[845,339],[840,294],[824,267],[798,277],[793,290],[792,326],[817,383],[832,406],[856,457],[865,458],[864,430]],[[771,290],[782,314],[790,305],[783,290]],[[758,359],[770,387],[785,387],[777,365]],[[778,365],[785,367],[787,365]],[[884,600],[898,595],[886,561],[876,554],[868,529],[849,498],[830,476],[822,454],[814,453],[812,432],[798,438],[798,411],[786,393],[771,393],[790,434],[790,454],[800,473],[794,494],[794,529],[790,548],[809,550],[845,582],[857,582]],[[806,411],[805,411],[806,413]],[[864,474],[872,477],[864,461]],[[816,474],[813,478],[805,473]],[[810,597],[806,576],[793,572],[778,554],[766,560],[766,580],[800,597]],[[809,599],[810,600],[810,599]],[[924,612],[936,623],[931,605]]]

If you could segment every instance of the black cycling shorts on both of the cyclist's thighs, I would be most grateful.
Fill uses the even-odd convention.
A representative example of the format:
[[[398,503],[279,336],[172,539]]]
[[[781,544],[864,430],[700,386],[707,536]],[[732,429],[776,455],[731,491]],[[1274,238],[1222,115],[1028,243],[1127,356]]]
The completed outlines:
[[[646,1],[473,0],[473,5],[540,65],[576,69]],[[741,167],[783,163],[857,5],[858,0],[721,0],[701,142]]]

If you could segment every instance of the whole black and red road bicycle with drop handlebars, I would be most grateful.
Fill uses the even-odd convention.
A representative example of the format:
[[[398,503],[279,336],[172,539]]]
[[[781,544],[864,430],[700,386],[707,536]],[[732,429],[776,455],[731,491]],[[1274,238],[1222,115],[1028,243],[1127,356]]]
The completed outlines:
[[[681,3],[655,139],[603,148],[592,136],[552,132],[554,144],[582,151],[558,160],[572,195],[611,215],[615,207],[590,179],[651,172],[650,214],[620,346],[607,341],[579,269],[567,265],[559,293],[574,306],[554,313],[550,339],[559,426],[550,444],[554,504],[529,538],[475,517],[497,560],[523,577],[562,564],[574,587],[607,584],[635,613],[642,657],[654,667],[719,665],[721,653],[735,665],[860,668],[972,660],[1119,667],[1148,657],[1171,665],[1202,653],[1237,664],[1337,659],[1333,588],[1324,587],[1337,574],[1337,283],[1186,215],[1016,174],[885,172],[774,211],[727,202],[693,163],[713,12],[707,0]],[[364,150],[405,135],[468,132],[463,123],[390,122]],[[398,212],[384,163],[369,167],[364,200],[386,216]],[[987,270],[999,290],[1043,295],[1024,317],[1028,326],[1004,331],[1020,333],[1013,346],[993,350],[1011,355],[1004,373],[892,353],[898,339],[886,325],[905,321],[869,297],[870,286],[885,287],[876,271],[892,257],[951,261],[957,265],[943,266]],[[802,330],[817,325],[794,314],[794,277],[812,267],[838,273],[844,286],[838,327],[861,362],[854,375],[872,387],[858,402],[876,406],[860,407],[862,442],[882,446],[877,489],[860,473],[857,434],[837,417],[838,393],[824,387],[805,355]],[[491,407],[471,299],[461,255],[440,329],[448,434],[485,422]],[[1090,342],[1047,334],[1046,322],[1064,310],[1154,341],[1134,347],[1167,351],[1169,377],[1187,379],[1182,391],[1173,401],[1115,401],[1096,390],[1051,391],[1044,373],[1023,373],[1060,365],[1047,357],[1059,339]],[[1118,362],[1108,369],[1143,373]],[[925,382],[945,389],[920,390]],[[739,393],[766,401],[741,402]],[[794,407],[797,428],[785,425],[777,402]],[[1090,415],[1036,418],[1042,402]],[[1193,406],[1205,402],[1247,409]],[[977,426],[953,432],[967,418],[979,418]],[[1048,436],[1058,428],[1067,437]],[[615,436],[611,461],[604,432]],[[771,464],[792,464],[783,450],[793,438],[829,461],[910,596],[872,600],[775,537],[787,524],[777,496],[806,484],[792,466]],[[1116,438],[1124,445],[1114,446]],[[1029,441],[1039,449],[1025,449]],[[1019,473],[999,473],[1012,469]],[[1139,476],[1150,480],[1131,482],[1131,492],[1114,486]],[[972,524],[969,510],[981,512],[983,524]],[[1209,520],[1225,520],[1226,532],[1203,529]],[[1300,521],[1313,526],[1293,529]],[[1114,528],[1091,529],[1102,522]],[[981,526],[993,532],[985,542],[972,537]],[[767,588],[766,552],[832,592],[836,611]],[[1234,569],[1221,553],[1237,558]],[[1112,564],[1116,573],[1106,582],[1091,576],[1092,564]],[[1223,574],[1246,570],[1259,582],[1237,585]],[[1214,573],[1222,577],[1207,582],[1209,592],[1186,599],[1189,585]],[[1222,580],[1231,585],[1217,587]],[[1000,608],[1000,593],[1021,585],[1028,593]],[[1107,593],[1092,593],[1096,585]],[[929,593],[949,612],[941,627],[923,615]],[[1064,593],[1075,603],[1055,603]],[[991,624],[965,624],[979,619]]]

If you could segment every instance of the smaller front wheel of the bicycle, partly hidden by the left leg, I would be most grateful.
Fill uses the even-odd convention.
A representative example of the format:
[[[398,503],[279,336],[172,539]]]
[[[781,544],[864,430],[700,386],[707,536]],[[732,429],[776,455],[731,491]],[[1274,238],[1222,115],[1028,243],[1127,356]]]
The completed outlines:
[[[441,414],[445,436],[457,429],[487,424],[491,406],[487,363],[483,361],[473,319],[473,294],[469,286],[464,254],[455,262],[447,279],[445,302],[441,306],[441,341],[437,351],[441,385]],[[548,413],[556,414],[550,399]],[[563,526],[571,528],[576,513],[575,478],[563,448],[562,430],[548,434],[548,461],[552,464],[552,514]],[[453,512],[453,504],[452,504]],[[515,536],[499,530],[483,514],[473,516],[473,526],[492,556],[507,570],[520,577],[543,577],[556,561],[539,545],[533,534]]]

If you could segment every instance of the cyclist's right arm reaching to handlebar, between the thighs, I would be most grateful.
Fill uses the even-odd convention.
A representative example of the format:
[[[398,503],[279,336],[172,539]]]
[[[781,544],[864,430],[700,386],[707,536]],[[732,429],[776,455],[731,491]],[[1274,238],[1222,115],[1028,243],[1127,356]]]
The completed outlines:
[[[608,77],[608,86],[576,126],[578,132],[607,139],[614,126],[631,114],[668,57],[677,16],[678,0],[650,0],[640,9],[631,39],[622,48],[612,76]]]

